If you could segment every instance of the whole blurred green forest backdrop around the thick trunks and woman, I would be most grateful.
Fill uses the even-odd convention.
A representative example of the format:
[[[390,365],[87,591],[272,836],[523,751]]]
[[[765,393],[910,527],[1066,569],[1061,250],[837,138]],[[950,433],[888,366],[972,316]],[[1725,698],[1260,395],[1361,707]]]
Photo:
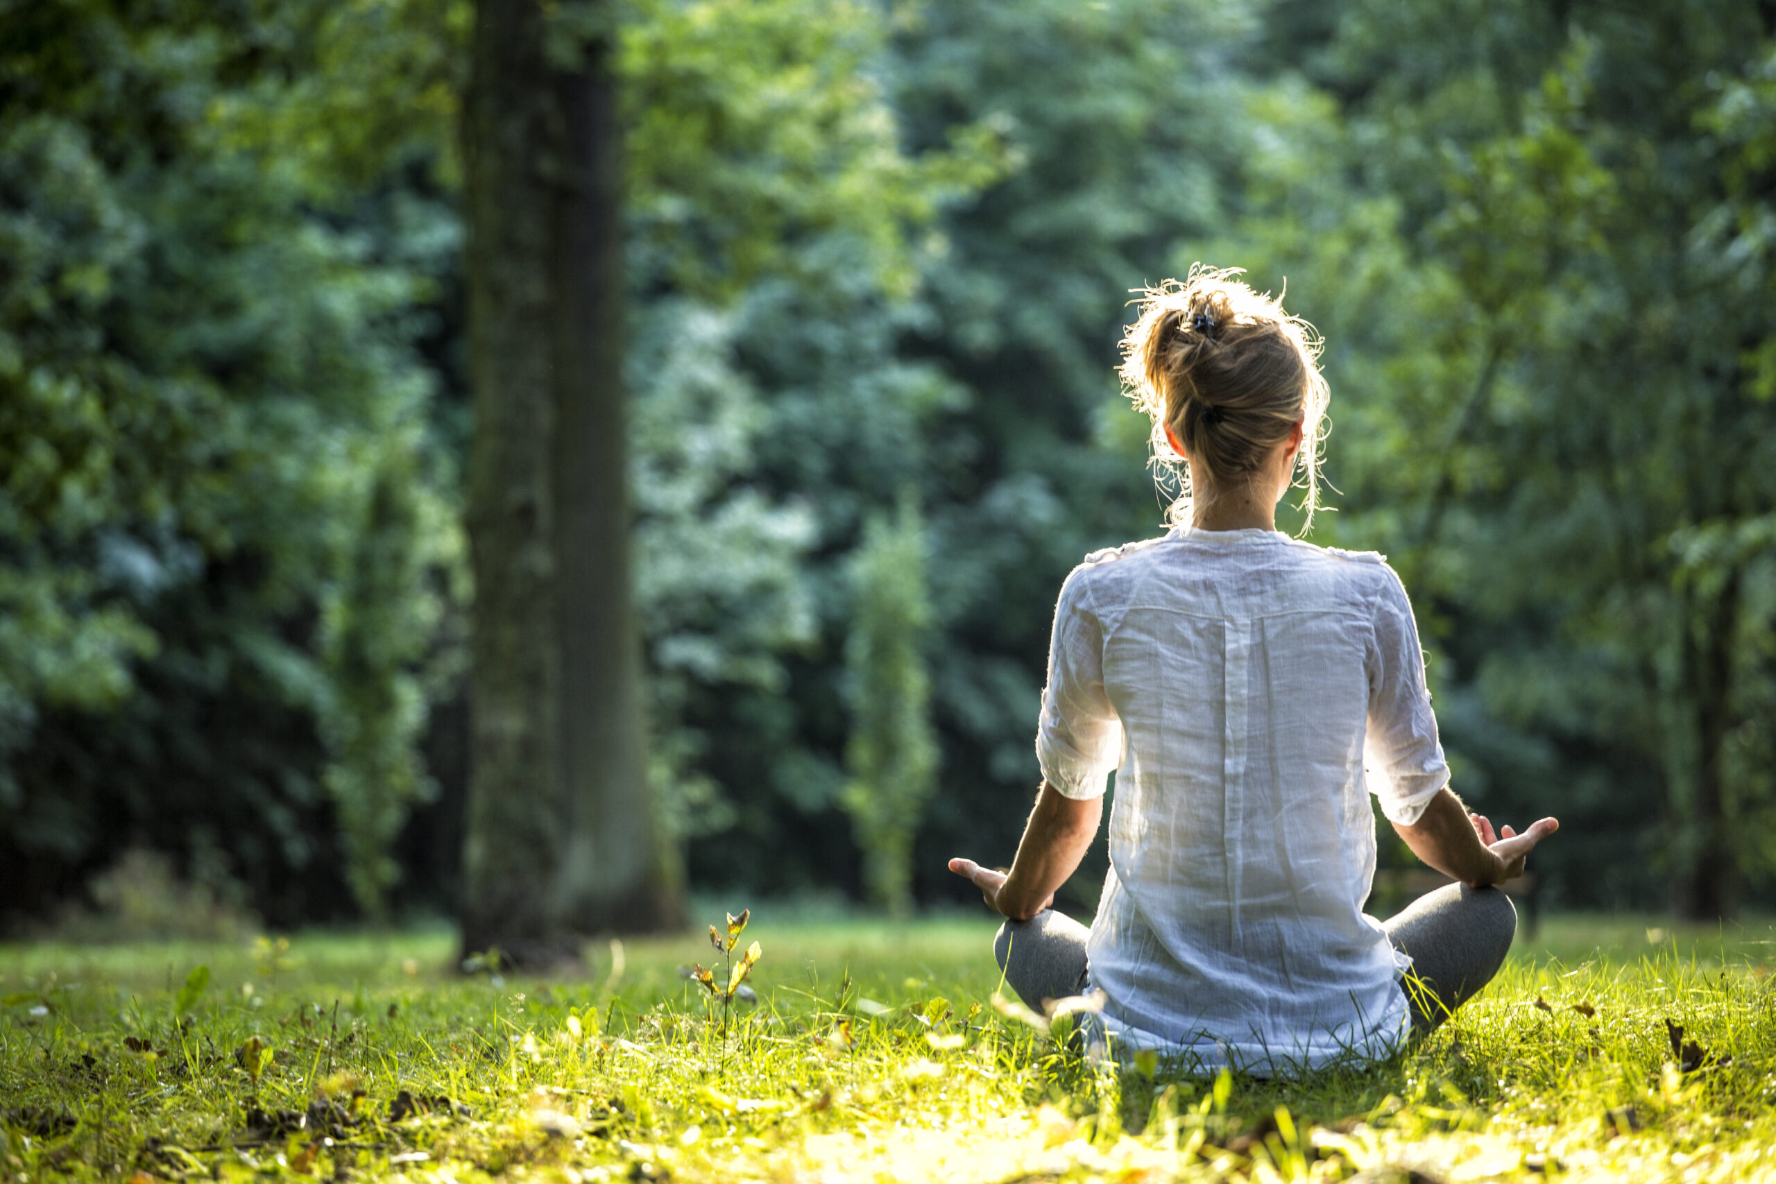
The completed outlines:
[[[0,2],[7,925],[155,875],[455,911],[469,30]],[[947,856],[1011,857],[1060,580],[1162,529],[1128,293],[1206,261],[1325,334],[1309,538],[1401,572],[1456,788],[1563,818],[1543,900],[1776,904],[1776,7],[629,0],[618,37],[693,888],[963,902]]]

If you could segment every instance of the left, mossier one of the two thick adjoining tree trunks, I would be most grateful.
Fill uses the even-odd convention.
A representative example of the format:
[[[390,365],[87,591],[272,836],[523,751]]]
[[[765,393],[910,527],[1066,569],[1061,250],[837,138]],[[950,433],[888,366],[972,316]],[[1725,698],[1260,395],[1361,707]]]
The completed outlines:
[[[464,107],[469,233],[469,382],[474,440],[467,525],[474,566],[474,706],[464,840],[462,943],[519,960],[567,950],[549,911],[559,866],[554,639],[554,366],[551,192],[542,12],[524,0],[476,11]]]

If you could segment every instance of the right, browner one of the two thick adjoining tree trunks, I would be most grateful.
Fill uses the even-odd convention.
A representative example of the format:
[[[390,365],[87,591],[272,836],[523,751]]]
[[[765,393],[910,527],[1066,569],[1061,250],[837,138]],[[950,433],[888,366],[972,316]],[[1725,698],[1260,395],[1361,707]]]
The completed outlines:
[[[556,497],[565,852],[558,907],[581,932],[682,921],[682,877],[650,809],[641,641],[629,572],[622,128],[609,0],[584,67],[556,76]]]

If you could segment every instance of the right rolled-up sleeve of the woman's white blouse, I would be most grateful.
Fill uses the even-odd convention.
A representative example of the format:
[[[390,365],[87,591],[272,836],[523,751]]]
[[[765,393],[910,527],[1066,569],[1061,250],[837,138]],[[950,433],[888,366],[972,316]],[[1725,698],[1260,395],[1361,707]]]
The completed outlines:
[[[1449,765],[1437,740],[1437,715],[1424,685],[1424,651],[1412,602],[1392,568],[1382,568],[1375,634],[1368,655],[1369,728],[1364,772],[1369,792],[1389,822],[1412,825],[1437,790],[1449,783]]]

